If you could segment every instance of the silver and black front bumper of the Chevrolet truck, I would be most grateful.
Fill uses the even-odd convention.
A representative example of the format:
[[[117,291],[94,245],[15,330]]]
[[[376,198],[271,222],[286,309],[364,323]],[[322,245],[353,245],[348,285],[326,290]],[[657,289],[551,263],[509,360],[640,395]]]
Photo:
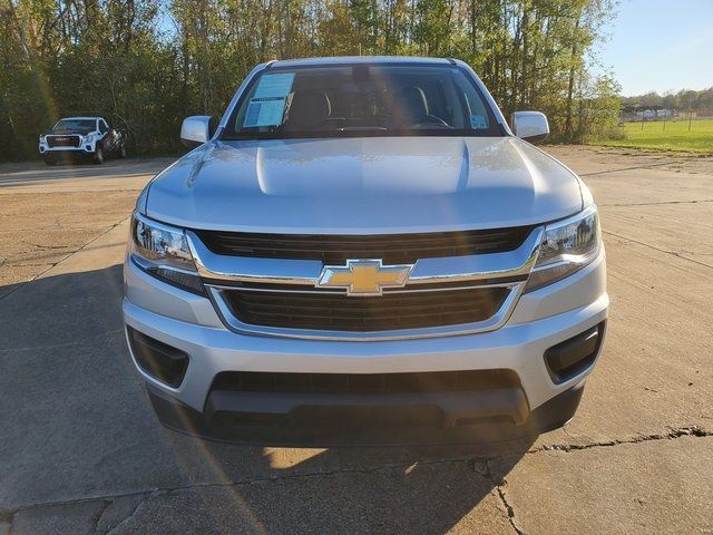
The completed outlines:
[[[125,264],[124,318],[136,331],[185,352],[189,363],[177,387],[156,380],[137,366],[149,385],[150,399],[162,421],[169,427],[224,439],[248,439],[274,444],[363,441],[362,426],[338,426],[332,439],[318,432],[323,421],[346,416],[350,422],[368,424],[384,408],[436,408],[436,427],[417,430],[401,441],[440,439],[502,439],[533,435],[561,426],[574,415],[584,379],[594,362],[566,380],[556,382],[545,363],[545,352],[596,325],[604,325],[608,310],[604,254],[580,272],[538,291],[524,294],[508,322],[500,329],[463,335],[418,340],[330,341],[241,334],[228,330],[206,298],[165,284],[130,261]],[[602,338],[604,337],[602,329]],[[602,344],[597,347],[597,358]],[[135,357],[135,356],[134,356]],[[136,358],[135,358],[136,363]],[[304,395],[285,399],[257,392],[242,397],[212,391],[218,373],[229,371],[285,373],[398,373],[456,370],[511,370],[519,378],[517,391],[490,390],[462,396],[315,398]],[[218,392],[219,393],[219,392]],[[449,405],[450,403],[450,405]],[[279,408],[275,408],[279,406]],[[446,409],[443,408],[446,407]],[[450,407],[450,409],[449,409]],[[343,409],[343,410],[334,410]],[[375,412],[374,412],[375,410]],[[450,412],[449,412],[450,411]],[[217,415],[253,416],[236,425],[217,425]],[[455,429],[450,414],[466,415],[473,426]],[[274,426],[264,416],[290,416],[289,425]],[[315,417],[319,415],[319,417]],[[509,417],[509,425],[481,425],[494,416]],[[257,418],[254,418],[257,416]],[[294,417],[294,418],[292,418]],[[313,418],[314,417],[314,418]],[[305,421],[306,420],[306,421]],[[256,424],[257,422],[257,424]],[[318,424],[316,426],[311,425]],[[263,425],[265,424],[265,425]],[[440,424],[440,425],[439,425]],[[287,432],[293,430],[294,432]],[[286,436],[285,436],[286,434]],[[465,434],[465,436],[463,436]],[[378,431],[389,441],[391,428]],[[408,436],[408,435],[407,435]],[[380,439],[377,439],[381,441]],[[372,440],[367,440],[372,441]]]

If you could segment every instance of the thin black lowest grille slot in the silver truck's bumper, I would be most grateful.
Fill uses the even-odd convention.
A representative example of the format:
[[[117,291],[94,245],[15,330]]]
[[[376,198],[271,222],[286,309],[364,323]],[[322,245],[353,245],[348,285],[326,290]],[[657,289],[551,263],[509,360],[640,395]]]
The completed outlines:
[[[381,395],[457,392],[520,388],[511,370],[460,370],[409,373],[275,373],[226,371],[213,390],[270,393]]]

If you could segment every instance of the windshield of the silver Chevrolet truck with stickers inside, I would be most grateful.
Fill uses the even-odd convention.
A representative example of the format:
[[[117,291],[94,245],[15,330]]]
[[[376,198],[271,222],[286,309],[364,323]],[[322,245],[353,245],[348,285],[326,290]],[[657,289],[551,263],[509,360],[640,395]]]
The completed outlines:
[[[457,66],[268,68],[247,87],[223,139],[502,136]]]

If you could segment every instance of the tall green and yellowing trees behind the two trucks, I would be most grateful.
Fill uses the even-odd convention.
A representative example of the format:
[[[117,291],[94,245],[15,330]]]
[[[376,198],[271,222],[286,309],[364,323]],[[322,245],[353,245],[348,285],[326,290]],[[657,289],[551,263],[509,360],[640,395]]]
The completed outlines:
[[[506,116],[556,140],[600,136],[618,87],[590,69],[614,0],[0,0],[0,159],[33,157],[60,116],[104,115],[145,153],[219,115],[257,62],[418,55],[467,61]]]

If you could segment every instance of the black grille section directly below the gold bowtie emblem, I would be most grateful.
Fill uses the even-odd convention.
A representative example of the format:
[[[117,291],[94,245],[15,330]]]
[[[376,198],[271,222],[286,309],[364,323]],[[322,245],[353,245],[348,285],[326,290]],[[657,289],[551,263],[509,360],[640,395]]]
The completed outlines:
[[[292,329],[387,331],[455,325],[492,317],[509,290],[467,288],[390,292],[381,296],[341,293],[224,290],[231,312],[243,323]]]

